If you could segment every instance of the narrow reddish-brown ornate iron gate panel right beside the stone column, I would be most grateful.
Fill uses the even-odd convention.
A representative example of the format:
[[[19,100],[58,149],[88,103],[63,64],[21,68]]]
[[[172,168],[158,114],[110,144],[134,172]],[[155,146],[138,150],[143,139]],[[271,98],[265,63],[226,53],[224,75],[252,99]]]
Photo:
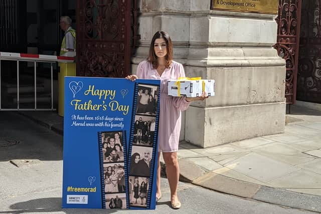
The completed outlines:
[[[286,61],[286,103],[295,104],[301,0],[279,0],[278,7],[277,44],[274,48]]]

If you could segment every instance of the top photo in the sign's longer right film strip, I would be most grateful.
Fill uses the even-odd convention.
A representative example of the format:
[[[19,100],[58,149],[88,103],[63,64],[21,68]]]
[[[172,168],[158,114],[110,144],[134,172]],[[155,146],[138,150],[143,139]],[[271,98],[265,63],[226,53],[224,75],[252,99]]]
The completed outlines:
[[[156,115],[159,87],[154,85],[138,85],[137,114]]]

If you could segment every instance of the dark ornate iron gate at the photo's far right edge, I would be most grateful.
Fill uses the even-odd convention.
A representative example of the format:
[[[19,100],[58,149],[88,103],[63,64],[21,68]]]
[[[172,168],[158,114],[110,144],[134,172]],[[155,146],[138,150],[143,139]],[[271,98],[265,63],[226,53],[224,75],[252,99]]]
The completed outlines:
[[[321,0],[302,1],[297,100],[321,103]]]

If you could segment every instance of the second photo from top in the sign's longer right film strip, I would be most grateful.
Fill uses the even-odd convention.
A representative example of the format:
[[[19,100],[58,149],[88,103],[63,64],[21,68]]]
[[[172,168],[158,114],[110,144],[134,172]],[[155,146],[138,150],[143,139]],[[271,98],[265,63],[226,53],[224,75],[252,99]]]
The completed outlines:
[[[152,146],[155,134],[154,116],[136,115],[133,131],[133,145]]]

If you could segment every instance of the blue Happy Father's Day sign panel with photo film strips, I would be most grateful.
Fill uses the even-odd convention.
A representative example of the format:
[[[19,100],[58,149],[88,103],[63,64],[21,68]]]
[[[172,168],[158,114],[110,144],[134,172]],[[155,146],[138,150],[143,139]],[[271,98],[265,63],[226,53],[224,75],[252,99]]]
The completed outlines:
[[[65,77],[64,208],[155,208],[159,85]]]

